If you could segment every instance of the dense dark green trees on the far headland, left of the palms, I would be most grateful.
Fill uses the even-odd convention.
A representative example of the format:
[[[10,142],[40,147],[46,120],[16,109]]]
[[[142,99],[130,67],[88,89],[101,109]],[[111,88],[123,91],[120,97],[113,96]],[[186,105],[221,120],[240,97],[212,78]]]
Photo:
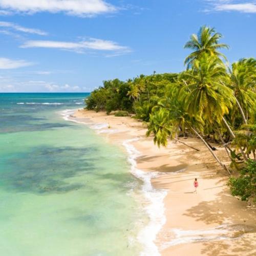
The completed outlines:
[[[120,81],[104,81],[103,87],[94,90],[86,98],[86,108],[95,111],[123,110],[137,113],[138,118],[148,120],[151,109],[164,95],[165,85],[175,81],[177,74],[159,74]],[[146,103],[146,104],[144,104]]]

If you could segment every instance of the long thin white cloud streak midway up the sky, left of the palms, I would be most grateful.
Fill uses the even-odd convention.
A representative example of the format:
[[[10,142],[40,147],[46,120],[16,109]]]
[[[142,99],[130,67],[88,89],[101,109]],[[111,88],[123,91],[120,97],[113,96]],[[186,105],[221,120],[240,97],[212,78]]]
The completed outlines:
[[[26,41],[25,44],[20,46],[20,48],[56,48],[60,50],[72,50],[75,52],[83,52],[84,50],[98,50],[125,53],[131,51],[128,47],[120,46],[116,42],[95,38],[80,42],[32,40]]]

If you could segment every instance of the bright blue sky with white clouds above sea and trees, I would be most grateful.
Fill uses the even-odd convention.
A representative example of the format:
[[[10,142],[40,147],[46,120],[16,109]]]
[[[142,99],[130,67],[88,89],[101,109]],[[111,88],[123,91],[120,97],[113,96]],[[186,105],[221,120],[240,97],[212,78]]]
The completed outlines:
[[[180,72],[189,36],[256,53],[256,0],[0,0],[0,92],[91,92],[103,80]]]

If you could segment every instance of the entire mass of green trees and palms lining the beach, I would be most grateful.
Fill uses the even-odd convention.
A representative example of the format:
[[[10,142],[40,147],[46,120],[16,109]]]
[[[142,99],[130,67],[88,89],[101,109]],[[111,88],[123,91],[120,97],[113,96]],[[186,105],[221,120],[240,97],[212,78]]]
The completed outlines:
[[[256,59],[242,58],[229,66],[219,52],[229,48],[220,44],[221,38],[204,26],[185,45],[194,51],[185,59],[185,71],[104,81],[86,104],[89,110],[108,114],[116,110],[133,113],[148,123],[147,136],[152,134],[158,146],[166,146],[168,139],[196,135],[228,174],[248,165],[239,179],[230,180],[232,194],[244,200],[248,192],[234,191],[245,179],[255,186],[255,170],[250,171],[250,180],[244,170],[255,168]],[[223,144],[230,167],[218,158],[212,141]]]

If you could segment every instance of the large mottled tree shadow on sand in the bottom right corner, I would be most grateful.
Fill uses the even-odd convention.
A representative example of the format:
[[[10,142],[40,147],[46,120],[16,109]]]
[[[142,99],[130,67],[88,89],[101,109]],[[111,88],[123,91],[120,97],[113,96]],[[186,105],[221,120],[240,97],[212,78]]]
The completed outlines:
[[[227,227],[230,232],[226,240],[204,242],[202,254],[256,255],[256,242],[252,245],[252,241],[256,241],[256,210],[248,210],[245,204],[222,191],[217,200],[203,201],[186,211],[185,216],[206,224],[234,223]]]

